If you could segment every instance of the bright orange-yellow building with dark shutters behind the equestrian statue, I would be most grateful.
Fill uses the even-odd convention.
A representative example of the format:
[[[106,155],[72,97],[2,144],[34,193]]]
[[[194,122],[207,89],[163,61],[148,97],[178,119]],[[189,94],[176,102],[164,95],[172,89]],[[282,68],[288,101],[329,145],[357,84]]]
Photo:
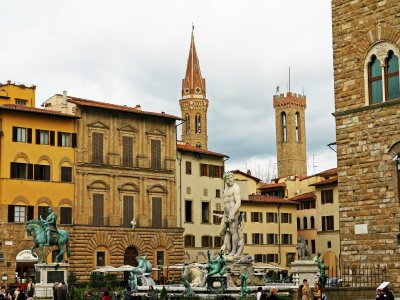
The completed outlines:
[[[10,99],[24,98],[26,90],[20,90]],[[73,222],[75,120],[28,105],[0,105],[0,273],[8,282],[15,274],[21,280],[35,276],[35,259],[22,255],[33,245],[27,220],[46,217],[51,206],[60,228]],[[47,249],[49,261],[54,250]]]

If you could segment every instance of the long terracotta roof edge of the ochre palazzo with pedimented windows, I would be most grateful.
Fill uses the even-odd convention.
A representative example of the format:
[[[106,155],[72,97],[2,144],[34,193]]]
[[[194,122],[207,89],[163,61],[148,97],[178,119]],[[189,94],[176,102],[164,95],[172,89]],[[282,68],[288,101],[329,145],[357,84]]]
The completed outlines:
[[[155,112],[150,112],[150,111],[143,111],[141,109],[133,108],[133,107],[126,106],[126,105],[117,105],[117,104],[82,99],[82,98],[77,98],[77,97],[68,97],[67,101],[74,103],[78,106],[97,107],[97,108],[103,108],[103,109],[125,111],[125,112],[130,112],[130,113],[135,113],[135,114],[141,114],[141,115],[150,115],[150,116],[157,116],[157,117],[169,118],[169,119],[174,119],[174,120],[182,120],[180,117],[177,117],[174,115],[169,115],[166,113],[155,113]]]

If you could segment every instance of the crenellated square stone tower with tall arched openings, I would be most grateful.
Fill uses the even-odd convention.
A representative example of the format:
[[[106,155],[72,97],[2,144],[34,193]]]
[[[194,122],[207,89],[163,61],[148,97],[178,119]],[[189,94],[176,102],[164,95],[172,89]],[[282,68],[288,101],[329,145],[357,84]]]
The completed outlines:
[[[307,175],[306,96],[288,92],[274,96],[278,177]]]

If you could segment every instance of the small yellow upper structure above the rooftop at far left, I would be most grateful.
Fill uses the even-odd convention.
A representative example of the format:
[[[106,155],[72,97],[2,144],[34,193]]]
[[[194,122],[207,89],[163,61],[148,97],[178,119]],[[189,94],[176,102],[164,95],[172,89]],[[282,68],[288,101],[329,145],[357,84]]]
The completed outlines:
[[[0,83],[0,104],[17,104],[35,107],[36,86],[16,84],[10,80]]]

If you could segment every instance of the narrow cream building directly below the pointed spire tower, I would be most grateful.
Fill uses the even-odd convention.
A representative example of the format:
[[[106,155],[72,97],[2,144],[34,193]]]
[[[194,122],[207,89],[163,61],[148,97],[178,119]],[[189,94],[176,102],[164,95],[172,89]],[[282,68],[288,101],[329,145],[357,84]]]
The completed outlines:
[[[207,250],[221,246],[224,162],[226,155],[177,145],[177,199],[179,226],[185,229],[185,262],[206,262]]]

